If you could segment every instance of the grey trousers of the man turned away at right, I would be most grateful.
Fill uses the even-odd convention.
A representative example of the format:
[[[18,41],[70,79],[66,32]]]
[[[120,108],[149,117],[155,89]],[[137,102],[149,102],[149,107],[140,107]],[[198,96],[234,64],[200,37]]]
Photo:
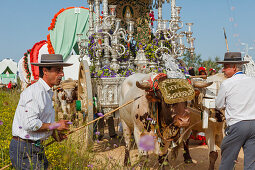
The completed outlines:
[[[219,169],[234,169],[239,151],[243,147],[244,169],[255,170],[255,120],[235,123],[226,128],[225,134],[221,144]]]

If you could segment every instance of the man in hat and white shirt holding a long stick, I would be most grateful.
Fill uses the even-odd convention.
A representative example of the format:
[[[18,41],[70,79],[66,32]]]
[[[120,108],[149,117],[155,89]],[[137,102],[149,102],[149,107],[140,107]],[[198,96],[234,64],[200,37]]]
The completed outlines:
[[[25,89],[17,106],[13,125],[13,138],[10,143],[10,159],[16,169],[47,169],[41,142],[49,136],[61,141],[66,136],[61,131],[68,130],[68,120],[55,120],[52,103],[52,87],[59,85],[64,76],[62,55],[43,54],[39,66],[40,79]]]

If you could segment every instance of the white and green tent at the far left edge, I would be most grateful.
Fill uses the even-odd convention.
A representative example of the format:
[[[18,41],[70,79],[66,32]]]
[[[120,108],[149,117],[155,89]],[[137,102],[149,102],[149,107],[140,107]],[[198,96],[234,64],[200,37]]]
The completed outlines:
[[[10,81],[17,83],[18,65],[12,59],[4,59],[0,62],[0,83],[8,84]]]

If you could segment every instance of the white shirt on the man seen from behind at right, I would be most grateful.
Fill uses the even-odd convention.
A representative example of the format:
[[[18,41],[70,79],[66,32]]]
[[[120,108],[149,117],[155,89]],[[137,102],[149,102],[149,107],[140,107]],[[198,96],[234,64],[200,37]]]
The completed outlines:
[[[237,72],[223,81],[216,98],[216,108],[225,108],[228,126],[255,119],[255,77]]]

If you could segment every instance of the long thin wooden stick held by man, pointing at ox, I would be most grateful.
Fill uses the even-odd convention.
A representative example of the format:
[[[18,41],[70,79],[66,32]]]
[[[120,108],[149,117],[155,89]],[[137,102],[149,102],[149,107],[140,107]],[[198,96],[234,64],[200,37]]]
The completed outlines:
[[[143,95],[142,95],[142,96],[143,96]],[[130,100],[129,102],[127,102],[127,103],[121,105],[120,107],[118,107],[118,108],[116,108],[116,109],[114,109],[114,110],[112,110],[112,111],[106,113],[104,116],[99,117],[99,118],[97,118],[97,119],[95,119],[95,120],[92,120],[92,121],[90,121],[89,123],[87,123],[86,125],[83,125],[83,126],[77,128],[77,129],[74,129],[74,130],[68,132],[68,133],[66,134],[66,136],[68,136],[68,135],[70,135],[70,134],[72,134],[72,133],[74,133],[74,132],[77,132],[78,130],[80,130],[80,129],[82,129],[82,128],[85,128],[86,126],[88,126],[88,125],[90,125],[90,124],[92,124],[92,123],[98,121],[99,119],[102,119],[102,118],[104,118],[104,117],[106,117],[106,116],[108,116],[108,115],[110,115],[110,114],[116,112],[117,110],[119,110],[119,109],[125,107],[126,105],[129,105],[130,103],[133,103],[134,101],[136,101],[137,99],[139,99],[139,98],[142,97],[142,96],[139,96],[139,97],[137,97],[137,98],[135,98],[135,99],[133,99],[133,100]],[[51,144],[53,144],[53,143],[55,143],[55,142],[56,142],[56,140],[53,140],[53,141],[47,143],[47,144],[45,145],[45,147],[47,147],[47,146],[49,146],[49,145],[51,145]]]

